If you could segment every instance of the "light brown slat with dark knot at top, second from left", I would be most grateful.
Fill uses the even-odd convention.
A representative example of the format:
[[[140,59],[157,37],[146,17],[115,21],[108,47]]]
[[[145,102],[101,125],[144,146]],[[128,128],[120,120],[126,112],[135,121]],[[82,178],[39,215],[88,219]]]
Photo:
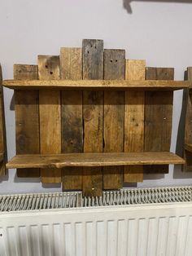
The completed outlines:
[[[59,56],[39,55],[40,80],[59,79]],[[39,90],[40,152],[61,152],[61,111],[59,90]],[[60,169],[41,169],[42,183],[60,183]]]

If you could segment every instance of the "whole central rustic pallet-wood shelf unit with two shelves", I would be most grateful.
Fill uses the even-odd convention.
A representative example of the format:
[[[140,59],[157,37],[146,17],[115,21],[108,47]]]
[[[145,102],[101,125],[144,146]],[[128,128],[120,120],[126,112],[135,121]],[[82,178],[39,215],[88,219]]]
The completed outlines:
[[[39,55],[37,65],[14,65],[16,156],[19,177],[62,183],[63,191],[103,190],[166,174],[185,160],[169,152],[174,68],[146,68],[122,49],[85,39],[82,48]]]

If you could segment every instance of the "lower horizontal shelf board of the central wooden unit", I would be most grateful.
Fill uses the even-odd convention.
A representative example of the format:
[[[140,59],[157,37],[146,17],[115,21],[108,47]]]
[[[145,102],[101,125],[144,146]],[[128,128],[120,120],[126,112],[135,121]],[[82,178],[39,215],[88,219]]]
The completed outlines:
[[[17,155],[7,163],[12,168],[63,168],[66,166],[182,165],[185,160],[172,152],[66,153]]]

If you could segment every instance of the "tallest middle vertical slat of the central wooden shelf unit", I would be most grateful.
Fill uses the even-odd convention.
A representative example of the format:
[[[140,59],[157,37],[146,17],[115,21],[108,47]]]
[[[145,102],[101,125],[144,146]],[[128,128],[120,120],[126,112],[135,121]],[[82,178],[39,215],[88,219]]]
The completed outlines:
[[[83,40],[83,79],[103,79],[103,40]],[[103,152],[103,91],[83,92],[84,152]],[[101,196],[103,169],[84,168],[83,194]]]

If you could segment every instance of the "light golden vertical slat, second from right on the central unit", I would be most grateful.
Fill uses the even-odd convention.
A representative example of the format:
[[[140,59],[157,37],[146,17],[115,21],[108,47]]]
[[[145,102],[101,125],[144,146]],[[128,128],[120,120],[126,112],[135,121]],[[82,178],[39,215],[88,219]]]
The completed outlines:
[[[126,80],[145,80],[145,77],[145,60],[126,60]],[[144,104],[144,91],[125,91],[124,152],[144,151]],[[124,166],[124,183],[137,183],[142,181],[143,166]]]

